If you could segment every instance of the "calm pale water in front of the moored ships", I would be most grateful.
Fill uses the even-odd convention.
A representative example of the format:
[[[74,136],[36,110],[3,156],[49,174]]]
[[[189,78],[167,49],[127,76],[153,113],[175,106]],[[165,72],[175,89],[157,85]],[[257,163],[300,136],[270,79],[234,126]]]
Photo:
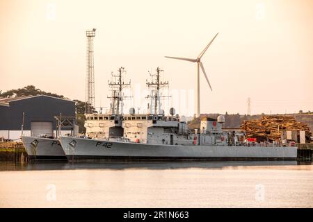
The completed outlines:
[[[313,165],[0,163],[0,207],[313,207]]]

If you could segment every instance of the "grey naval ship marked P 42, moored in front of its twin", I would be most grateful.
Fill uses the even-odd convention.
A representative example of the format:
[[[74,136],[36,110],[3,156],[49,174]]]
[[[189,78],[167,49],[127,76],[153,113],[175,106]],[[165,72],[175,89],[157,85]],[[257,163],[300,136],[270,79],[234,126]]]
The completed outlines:
[[[151,75],[152,80],[147,82],[150,112],[137,114],[131,108],[129,114],[119,114],[122,123],[111,122],[102,135],[118,132],[118,135],[122,133],[120,138],[60,137],[67,160],[296,160],[296,147],[232,144],[236,139],[223,132],[225,118],[222,115],[217,119],[202,118],[200,129],[188,128],[174,108],[170,108],[170,115],[166,116],[161,110],[160,90],[168,83],[160,80],[160,71],[158,68],[157,74]],[[122,96],[118,94],[116,99],[122,101]],[[112,113],[117,110],[116,104],[113,103],[115,108],[111,107]],[[99,117],[102,115],[88,116],[90,127],[101,127]]]

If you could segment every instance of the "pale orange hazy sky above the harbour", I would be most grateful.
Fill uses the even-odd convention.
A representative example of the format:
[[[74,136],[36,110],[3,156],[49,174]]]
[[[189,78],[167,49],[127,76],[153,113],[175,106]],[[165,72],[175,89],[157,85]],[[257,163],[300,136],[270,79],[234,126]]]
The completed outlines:
[[[200,73],[202,113],[244,114],[248,97],[252,114],[313,111],[310,0],[0,0],[0,10],[3,91],[35,85],[84,100],[85,31],[97,28],[96,106],[109,106],[107,80],[120,66],[133,91],[145,87],[148,70],[161,67],[181,96],[172,101],[185,102],[184,92],[195,89],[196,66],[164,56],[196,58],[220,33],[202,58],[213,87]],[[190,115],[193,104],[184,102],[176,109]]]

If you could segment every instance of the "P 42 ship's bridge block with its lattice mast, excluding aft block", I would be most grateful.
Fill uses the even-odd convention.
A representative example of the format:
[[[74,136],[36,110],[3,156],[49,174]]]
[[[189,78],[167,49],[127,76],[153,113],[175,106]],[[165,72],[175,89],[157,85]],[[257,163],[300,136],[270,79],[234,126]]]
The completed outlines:
[[[123,116],[122,128],[124,137],[130,142],[145,144],[165,144],[165,145],[188,145],[193,144],[195,135],[189,130],[185,121],[180,121],[179,115],[175,114],[175,109],[170,108],[170,115],[166,116],[162,109],[161,99],[170,96],[162,96],[161,89],[168,87],[168,81],[161,80],[161,70],[156,69],[156,74],[150,74],[152,79],[146,82],[150,89],[147,96],[147,114],[136,114],[134,108],[129,110],[129,114]]]

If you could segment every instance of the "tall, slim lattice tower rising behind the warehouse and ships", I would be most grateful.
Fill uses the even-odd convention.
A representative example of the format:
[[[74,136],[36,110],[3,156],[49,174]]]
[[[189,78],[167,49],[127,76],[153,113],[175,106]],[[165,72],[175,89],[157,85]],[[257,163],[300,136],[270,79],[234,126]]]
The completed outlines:
[[[85,92],[85,113],[92,113],[95,108],[95,72],[93,67],[93,39],[96,29],[86,31],[87,37],[87,76],[86,76],[86,92]]]

